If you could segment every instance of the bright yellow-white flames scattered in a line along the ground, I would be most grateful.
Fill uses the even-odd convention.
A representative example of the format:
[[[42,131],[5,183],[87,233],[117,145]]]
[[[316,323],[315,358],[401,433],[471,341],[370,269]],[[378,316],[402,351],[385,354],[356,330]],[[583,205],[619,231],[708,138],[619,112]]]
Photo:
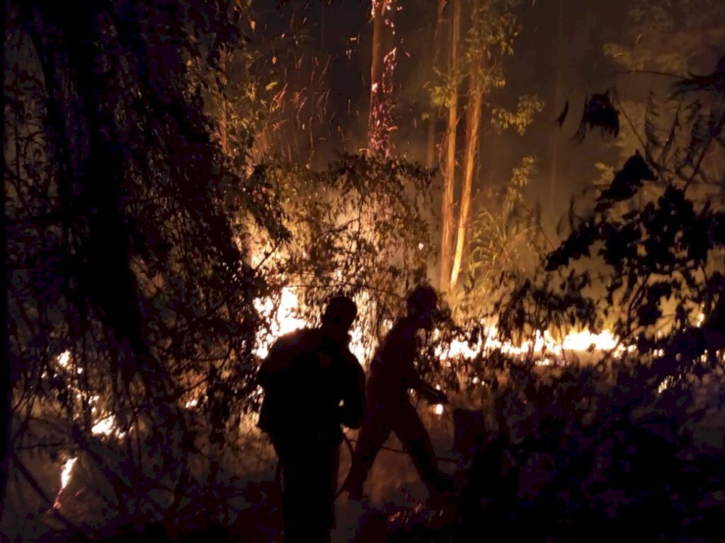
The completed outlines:
[[[276,303],[278,301],[278,303]],[[369,298],[365,295],[361,295],[356,302],[358,305],[361,303],[369,303]],[[302,318],[300,312],[300,303],[297,292],[292,287],[284,287],[281,290],[279,300],[273,298],[260,298],[254,302],[257,311],[263,319],[266,319],[270,323],[268,329],[263,329],[257,336],[257,348],[255,354],[264,358],[268,353],[273,342],[284,334],[294,332],[294,330],[314,325],[305,321]],[[701,319],[700,319],[701,321]],[[392,323],[385,323],[387,327],[391,327]],[[434,338],[436,334],[439,334],[439,330],[434,331]],[[534,334],[534,340],[524,341],[519,345],[514,345],[511,342],[502,342],[497,338],[498,330],[495,326],[489,326],[486,328],[486,334],[481,337],[478,343],[471,345],[470,342],[463,340],[453,340],[447,349],[438,348],[436,355],[444,363],[452,363],[455,359],[467,358],[472,359],[481,353],[488,353],[494,350],[500,350],[502,353],[510,355],[534,355],[539,366],[549,366],[552,362],[561,360],[566,351],[570,352],[584,352],[592,350],[600,352],[613,351],[613,355],[616,357],[621,356],[626,351],[631,352],[634,347],[626,347],[621,345],[618,338],[608,330],[602,331],[600,334],[593,334],[589,330],[582,330],[579,332],[570,332],[563,337],[560,342],[556,341],[549,332],[536,332]],[[363,328],[360,324],[357,324],[351,332],[350,342],[352,353],[357,356],[358,360],[365,363],[368,358],[368,354],[365,352],[363,345]],[[122,441],[125,438],[125,433],[122,432],[117,426],[117,421],[113,413],[107,413],[99,406],[99,396],[91,395],[88,391],[81,391],[73,377],[83,373],[83,369],[77,366],[72,361],[72,353],[65,351],[56,358],[57,372],[66,377],[68,386],[74,393],[78,400],[85,395],[91,404],[91,433],[96,436],[105,436],[108,438],[118,439]],[[479,380],[473,379],[473,383],[476,384]],[[668,382],[660,384],[660,392],[668,386]],[[440,387],[437,387],[440,388]],[[261,391],[258,391],[261,392]],[[188,400],[185,404],[187,409],[193,409],[196,407],[198,400],[193,398]],[[437,404],[432,406],[432,409],[436,415],[442,416],[444,413],[444,405]],[[59,509],[61,507],[61,498],[63,491],[67,487],[72,478],[73,468],[75,468],[76,461],[78,458],[70,457],[65,460],[62,464],[60,471],[60,490],[55,499],[53,508]]]

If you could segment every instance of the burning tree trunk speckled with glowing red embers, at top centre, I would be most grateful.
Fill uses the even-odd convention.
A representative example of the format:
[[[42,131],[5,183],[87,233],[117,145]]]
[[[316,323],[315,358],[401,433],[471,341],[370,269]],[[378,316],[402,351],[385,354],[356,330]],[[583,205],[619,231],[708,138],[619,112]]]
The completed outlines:
[[[387,156],[392,128],[395,70],[395,0],[373,0],[373,59],[370,67],[368,148]]]

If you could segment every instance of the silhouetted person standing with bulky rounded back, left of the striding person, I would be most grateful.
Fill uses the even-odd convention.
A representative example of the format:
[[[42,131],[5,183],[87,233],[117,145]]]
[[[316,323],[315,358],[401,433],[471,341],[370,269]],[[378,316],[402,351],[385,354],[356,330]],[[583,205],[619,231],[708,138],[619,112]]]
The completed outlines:
[[[260,368],[259,426],[281,462],[287,543],[330,541],[340,425],[359,427],[365,404],[365,374],[348,347],[356,316],[350,298],[331,298],[319,328],[281,337]]]

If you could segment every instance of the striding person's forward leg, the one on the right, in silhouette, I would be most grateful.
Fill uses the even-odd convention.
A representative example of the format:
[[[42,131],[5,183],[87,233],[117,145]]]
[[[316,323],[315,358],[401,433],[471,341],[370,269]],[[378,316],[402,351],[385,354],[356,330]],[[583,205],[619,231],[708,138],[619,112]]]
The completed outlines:
[[[392,430],[413,460],[415,469],[428,491],[445,492],[450,489],[451,479],[438,468],[438,458],[426,427],[413,405],[404,403],[391,419]]]

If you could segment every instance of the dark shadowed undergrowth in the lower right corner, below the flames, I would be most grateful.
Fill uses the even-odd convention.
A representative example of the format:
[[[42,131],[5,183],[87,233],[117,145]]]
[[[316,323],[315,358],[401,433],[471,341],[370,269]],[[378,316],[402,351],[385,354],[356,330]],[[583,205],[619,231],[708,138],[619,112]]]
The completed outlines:
[[[481,531],[500,534],[494,541],[542,542],[705,541],[715,533],[724,458],[698,452],[668,405],[687,394],[642,395],[645,372],[618,379],[614,393],[597,392],[601,377],[568,369],[497,394],[503,418],[476,434],[483,445],[467,471],[455,540]]]

